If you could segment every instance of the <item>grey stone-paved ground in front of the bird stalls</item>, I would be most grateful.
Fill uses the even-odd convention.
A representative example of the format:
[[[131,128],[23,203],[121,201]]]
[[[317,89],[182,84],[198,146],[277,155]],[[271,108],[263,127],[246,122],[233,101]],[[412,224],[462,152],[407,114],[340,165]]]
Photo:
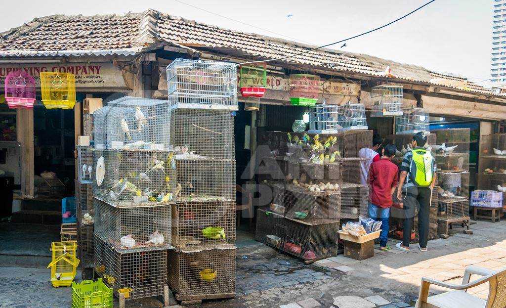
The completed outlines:
[[[409,307],[423,276],[460,283],[468,265],[506,267],[506,222],[479,221],[472,229],[474,235],[455,228],[450,238],[430,241],[428,252],[419,251],[417,245],[408,253],[376,250],[374,257],[362,261],[339,255],[305,265],[265,245],[238,249],[237,296],[205,301],[202,307]],[[0,307],[70,306],[70,288],[53,288],[48,278],[45,268],[0,267]],[[470,292],[486,297],[487,288],[482,285]],[[152,298],[128,306],[151,308],[161,303]]]

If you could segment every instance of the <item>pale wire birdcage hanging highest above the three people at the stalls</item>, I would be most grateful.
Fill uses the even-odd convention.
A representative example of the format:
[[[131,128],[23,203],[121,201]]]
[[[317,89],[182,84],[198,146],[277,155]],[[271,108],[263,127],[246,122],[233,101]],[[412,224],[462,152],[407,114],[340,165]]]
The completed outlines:
[[[394,117],[402,115],[401,85],[380,85],[372,88],[371,99],[374,103],[371,117]]]

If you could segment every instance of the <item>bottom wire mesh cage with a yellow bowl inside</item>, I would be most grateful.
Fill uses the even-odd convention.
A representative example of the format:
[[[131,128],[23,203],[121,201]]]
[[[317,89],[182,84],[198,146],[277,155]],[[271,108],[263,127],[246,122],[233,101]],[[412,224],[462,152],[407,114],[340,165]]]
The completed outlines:
[[[236,248],[181,250],[167,253],[168,283],[178,300],[235,295]]]

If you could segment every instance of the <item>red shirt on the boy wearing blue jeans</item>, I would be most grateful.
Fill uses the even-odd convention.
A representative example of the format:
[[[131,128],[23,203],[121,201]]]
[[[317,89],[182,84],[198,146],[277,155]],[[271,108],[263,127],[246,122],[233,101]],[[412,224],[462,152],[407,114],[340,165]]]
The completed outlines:
[[[392,187],[397,186],[399,169],[388,158],[382,158],[371,164],[369,183],[370,202],[382,208],[392,206]]]

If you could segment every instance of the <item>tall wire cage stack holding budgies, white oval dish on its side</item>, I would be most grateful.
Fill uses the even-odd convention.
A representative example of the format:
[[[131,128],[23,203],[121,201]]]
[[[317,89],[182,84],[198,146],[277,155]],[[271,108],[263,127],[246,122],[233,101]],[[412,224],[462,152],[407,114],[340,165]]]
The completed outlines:
[[[125,96],[93,114],[94,269],[128,300],[167,289],[177,189],[170,108]]]

